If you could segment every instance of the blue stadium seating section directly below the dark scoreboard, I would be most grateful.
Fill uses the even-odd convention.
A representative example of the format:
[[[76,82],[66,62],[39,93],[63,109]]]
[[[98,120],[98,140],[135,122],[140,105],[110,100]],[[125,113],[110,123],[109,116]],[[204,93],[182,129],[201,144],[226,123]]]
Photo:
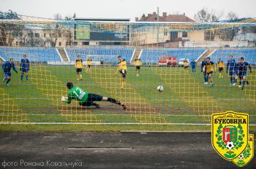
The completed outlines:
[[[67,47],[67,55],[70,61],[75,61],[80,55],[83,60],[91,58],[93,61],[99,61],[101,58],[105,63],[116,63],[116,58],[121,55],[129,63],[135,52],[134,47],[124,46],[88,46],[88,47]]]

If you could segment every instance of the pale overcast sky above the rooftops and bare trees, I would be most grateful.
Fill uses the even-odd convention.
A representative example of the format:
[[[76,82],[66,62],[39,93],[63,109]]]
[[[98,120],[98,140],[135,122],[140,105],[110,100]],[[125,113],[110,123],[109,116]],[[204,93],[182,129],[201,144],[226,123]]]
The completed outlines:
[[[186,13],[192,17],[203,7],[222,13],[230,11],[239,17],[256,17],[256,0],[0,0],[0,11],[12,9],[20,15],[50,17],[60,13],[77,17],[140,17],[151,12]]]

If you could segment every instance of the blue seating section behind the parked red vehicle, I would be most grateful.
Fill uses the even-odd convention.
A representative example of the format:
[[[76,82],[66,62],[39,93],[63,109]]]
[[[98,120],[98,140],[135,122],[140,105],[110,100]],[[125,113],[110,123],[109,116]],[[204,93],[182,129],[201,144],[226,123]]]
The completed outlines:
[[[176,57],[177,60],[181,58],[186,58],[189,60],[198,60],[203,53],[206,52],[203,48],[193,48],[193,49],[166,49],[166,48],[148,48],[143,49],[140,54],[140,59],[146,64],[156,64],[161,56],[170,55]]]

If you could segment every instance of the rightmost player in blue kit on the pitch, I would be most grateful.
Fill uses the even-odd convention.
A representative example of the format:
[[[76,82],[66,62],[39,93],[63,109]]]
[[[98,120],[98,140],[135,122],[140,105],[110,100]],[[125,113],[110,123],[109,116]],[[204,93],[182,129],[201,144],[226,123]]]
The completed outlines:
[[[238,66],[238,76],[241,77],[241,84],[242,84],[241,90],[244,90],[244,85],[246,82],[246,75],[247,75],[248,68],[249,68],[250,73],[252,74],[252,67],[249,65],[249,63],[244,61],[243,57],[241,57],[240,60],[241,61]]]

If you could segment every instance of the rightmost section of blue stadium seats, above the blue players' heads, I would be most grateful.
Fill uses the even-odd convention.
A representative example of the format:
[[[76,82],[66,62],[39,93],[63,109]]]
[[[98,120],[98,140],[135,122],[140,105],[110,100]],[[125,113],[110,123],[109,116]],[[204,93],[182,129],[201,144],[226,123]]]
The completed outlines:
[[[221,58],[225,63],[227,63],[227,60],[229,60],[230,55],[233,55],[233,58],[235,60],[237,60],[240,57],[244,57],[246,62],[256,64],[256,48],[214,50],[210,58],[214,63],[217,63],[219,58]]]

